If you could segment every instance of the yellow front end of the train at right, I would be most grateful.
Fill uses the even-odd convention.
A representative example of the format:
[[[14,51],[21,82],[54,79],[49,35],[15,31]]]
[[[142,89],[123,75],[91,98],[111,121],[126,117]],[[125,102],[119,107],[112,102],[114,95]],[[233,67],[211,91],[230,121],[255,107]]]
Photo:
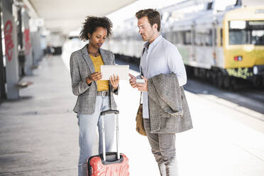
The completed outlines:
[[[229,11],[224,17],[224,68],[229,77],[264,84],[264,7]]]

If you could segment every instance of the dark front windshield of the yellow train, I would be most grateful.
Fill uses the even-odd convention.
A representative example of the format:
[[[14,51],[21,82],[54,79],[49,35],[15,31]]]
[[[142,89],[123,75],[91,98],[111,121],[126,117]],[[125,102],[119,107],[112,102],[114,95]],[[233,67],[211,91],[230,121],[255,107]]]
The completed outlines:
[[[229,21],[229,45],[264,45],[264,21]]]

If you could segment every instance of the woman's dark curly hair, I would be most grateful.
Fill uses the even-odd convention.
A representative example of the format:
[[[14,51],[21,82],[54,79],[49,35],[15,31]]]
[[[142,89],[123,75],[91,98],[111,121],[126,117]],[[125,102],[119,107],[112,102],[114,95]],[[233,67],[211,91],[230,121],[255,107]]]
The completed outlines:
[[[106,16],[87,16],[85,22],[83,23],[82,31],[79,33],[79,38],[84,41],[89,40],[88,33],[92,35],[92,33],[97,30],[97,27],[106,28],[106,38],[109,38],[112,35],[112,26],[112,22]]]

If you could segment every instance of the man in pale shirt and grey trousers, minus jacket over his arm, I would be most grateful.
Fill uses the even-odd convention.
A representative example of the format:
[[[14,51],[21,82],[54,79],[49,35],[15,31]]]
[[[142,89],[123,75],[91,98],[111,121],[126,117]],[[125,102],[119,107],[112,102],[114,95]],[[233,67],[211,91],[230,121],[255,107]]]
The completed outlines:
[[[158,163],[160,175],[175,176],[178,175],[175,133],[179,131],[173,133],[170,131],[167,133],[164,132],[166,129],[163,129],[163,132],[151,130],[150,115],[152,109],[149,109],[148,79],[160,74],[174,73],[178,81],[177,86],[182,87],[187,82],[185,66],[176,46],[160,35],[160,13],[158,11],[154,9],[141,10],[136,13],[136,18],[138,18],[139,33],[143,41],[146,41],[141,53],[140,63],[141,77],[145,80],[145,83],[136,83],[136,77],[131,74],[129,74],[131,77],[129,82],[131,87],[143,92],[144,127],[152,148],[152,153]],[[187,110],[189,111],[189,109]],[[171,118],[173,119],[175,117]],[[188,121],[188,126],[181,131],[186,131],[190,128],[192,128],[191,120]]]

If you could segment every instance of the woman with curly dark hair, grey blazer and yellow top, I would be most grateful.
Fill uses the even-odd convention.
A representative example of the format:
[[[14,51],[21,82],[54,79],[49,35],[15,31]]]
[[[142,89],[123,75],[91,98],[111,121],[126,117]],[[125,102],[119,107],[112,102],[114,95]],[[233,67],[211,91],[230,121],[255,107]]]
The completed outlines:
[[[79,176],[87,174],[87,158],[93,153],[99,133],[99,153],[102,151],[101,111],[116,109],[113,93],[119,92],[119,77],[111,77],[109,81],[100,80],[101,65],[114,65],[114,54],[101,49],[106,38],[111,35],[112,23],[109,18],[87,16],[80,38],[89,43],[75,51],[70,57],[70,75],[72,92],[77,98],[75,111],[79,125]],[[111,101],[109,101],[111,97]],[[114,115],[105,116],[106,152],[113,148]]]

